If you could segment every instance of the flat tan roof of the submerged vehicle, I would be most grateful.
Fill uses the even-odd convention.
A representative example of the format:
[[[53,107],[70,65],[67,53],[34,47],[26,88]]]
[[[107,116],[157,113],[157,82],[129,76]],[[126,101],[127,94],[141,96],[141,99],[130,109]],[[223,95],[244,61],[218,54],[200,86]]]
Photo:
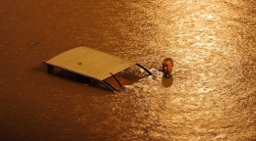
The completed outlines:
[[[73,71],[82,75],[90,76],[98,80],[119,71],[124,71],[136,63],[105,52],[85,46],[76,47],[63,52],[45,62],[67,71]]]

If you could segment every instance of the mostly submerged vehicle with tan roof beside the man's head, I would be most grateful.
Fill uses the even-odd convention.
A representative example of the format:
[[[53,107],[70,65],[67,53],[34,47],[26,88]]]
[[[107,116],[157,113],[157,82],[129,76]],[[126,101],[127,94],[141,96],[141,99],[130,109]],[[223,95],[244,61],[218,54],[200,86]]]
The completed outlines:
[[[152,75],[138,63],[85,46],[68,50],[44,63],[49,73],[70,72],[82,83],[114,92],[146,75]]]

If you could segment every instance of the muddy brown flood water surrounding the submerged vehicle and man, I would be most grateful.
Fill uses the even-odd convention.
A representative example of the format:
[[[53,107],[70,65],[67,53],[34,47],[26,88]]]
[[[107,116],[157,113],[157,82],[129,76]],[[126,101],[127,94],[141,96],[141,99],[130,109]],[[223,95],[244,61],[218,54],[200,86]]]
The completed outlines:
[[[6,0],[0,19],[2,141],[256,140],[254,0]],[[79,44],[154,75],[112,93],[47,73]]]

